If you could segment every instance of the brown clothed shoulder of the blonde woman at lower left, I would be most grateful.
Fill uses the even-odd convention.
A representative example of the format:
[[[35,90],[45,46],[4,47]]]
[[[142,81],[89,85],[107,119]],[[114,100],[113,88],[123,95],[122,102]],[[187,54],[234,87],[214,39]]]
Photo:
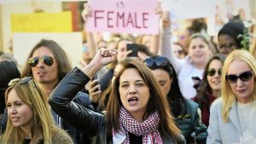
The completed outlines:
[[[64,130],[55,130],[52,135],[52,143],[73,144],[73,141]]]

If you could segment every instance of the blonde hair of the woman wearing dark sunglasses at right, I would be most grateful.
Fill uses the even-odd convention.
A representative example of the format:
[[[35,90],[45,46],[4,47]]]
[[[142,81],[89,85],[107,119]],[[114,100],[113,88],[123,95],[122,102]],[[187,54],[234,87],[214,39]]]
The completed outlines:
[[[236,95],[233,93],[232,89],[230,88],[229,82],[226,81],[225,75],[227,73],[227,70],[230,66],[230,63],[234,60],[243,60],[247,63],[248,66],[253,71],[254,78],[256,74],[256,61],[253,58],[253,55],[251,55],[248,51],[246,50],[234,50],[228,55],[226,60],[224,61],[224,66],[222,69],[222,74],[221,74],[221,99],[222,99],[222,118],[224,122],[228,122],[229,118],[229,113],[230,113],[230,107],[234,101],[236,101]],[[256,85],[256,80],[254,79],[254,88],[253,88],[253,94],[255,94],[255,85]],[[256,99],[256,95],[253,95],[253,100]]]

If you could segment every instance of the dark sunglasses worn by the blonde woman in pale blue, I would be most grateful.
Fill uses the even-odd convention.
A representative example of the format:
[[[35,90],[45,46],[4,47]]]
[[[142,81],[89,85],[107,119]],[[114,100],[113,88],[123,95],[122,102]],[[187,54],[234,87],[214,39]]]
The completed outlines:
[[[253,77],[253,72],[252,71],[247,71],[247,72],[242,72],[239,76],[236,76],[235,74],[227,74],[225,76],[226,80],[230,84],[236,84],[237,79],[241,79],[243,82],[249,81]]]

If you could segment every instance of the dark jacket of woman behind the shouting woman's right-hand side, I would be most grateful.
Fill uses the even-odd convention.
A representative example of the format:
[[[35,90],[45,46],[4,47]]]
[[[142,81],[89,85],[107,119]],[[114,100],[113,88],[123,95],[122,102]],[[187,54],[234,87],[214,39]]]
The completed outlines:
[[[197,103],[185,100],[182,103],[182,111],[175,119],[187,143],[194,143],[196,141],[197,144],[204,144],[207,142],[207,126],[201,123],[198,110]]]

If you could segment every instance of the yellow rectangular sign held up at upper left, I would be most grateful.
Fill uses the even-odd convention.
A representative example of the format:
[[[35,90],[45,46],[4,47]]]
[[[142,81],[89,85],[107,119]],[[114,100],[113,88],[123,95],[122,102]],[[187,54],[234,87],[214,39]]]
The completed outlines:
[[[12,32],[72,32],[72,14],[61,13],[12,14]]]

